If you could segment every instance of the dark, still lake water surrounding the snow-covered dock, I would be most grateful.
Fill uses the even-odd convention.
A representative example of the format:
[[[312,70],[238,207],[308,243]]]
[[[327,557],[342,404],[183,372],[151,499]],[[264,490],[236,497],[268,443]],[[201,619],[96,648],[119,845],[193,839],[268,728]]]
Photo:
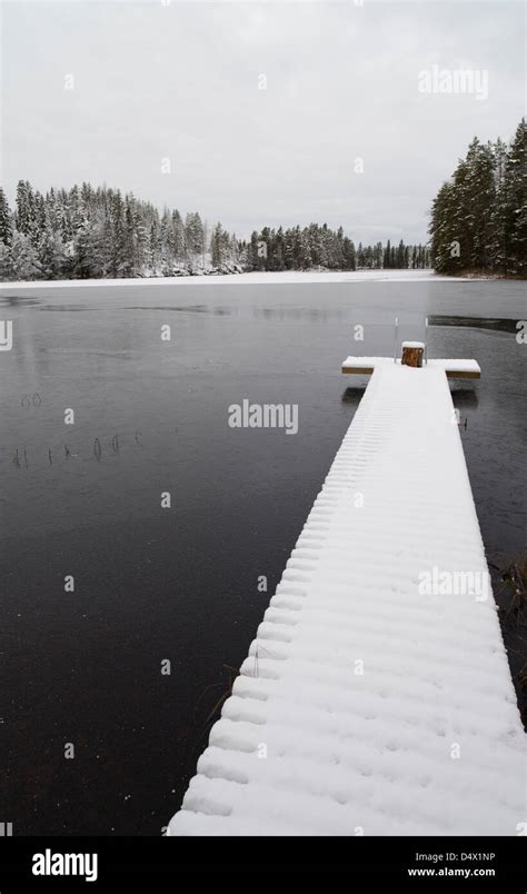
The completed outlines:
[[[13,834],[161,834],[360,399],[367,380],[340,362],[389,352],[394,315],[416,312],[449,318],[429,329],[430,357],[483,368],[453,388],[487,553],[504,564],[526,546],[527,345],[478,319],[525,319],[525,285],[0,292],[14,327],[0,352],[0,818]],[[243,398],[298,404],[298,434],[230,428]],[[525,632],[509,627],[517,673]]]

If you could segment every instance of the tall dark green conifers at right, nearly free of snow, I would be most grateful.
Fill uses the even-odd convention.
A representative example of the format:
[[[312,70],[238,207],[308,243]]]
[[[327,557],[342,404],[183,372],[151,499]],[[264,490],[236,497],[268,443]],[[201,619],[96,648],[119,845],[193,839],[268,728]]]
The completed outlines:
[[[434,199],[431,259],[439,274],[527,275],[525,118],[507,146],[475,138]]]

